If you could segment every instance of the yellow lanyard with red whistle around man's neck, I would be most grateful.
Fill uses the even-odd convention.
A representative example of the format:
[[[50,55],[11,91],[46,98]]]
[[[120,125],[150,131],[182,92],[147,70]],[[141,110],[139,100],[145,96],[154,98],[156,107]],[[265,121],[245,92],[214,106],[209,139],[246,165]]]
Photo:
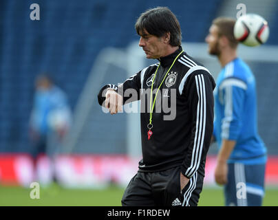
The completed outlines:
[[[182,50],[182,52],[184,52],[184,51]],[[182,52],[180,52],[180,54],[182,54]],[[171,67],[168,69],[168,71],[167,71],[167,73],[165,74],[165,76],[164,76],[162,82],[160,83],[160,86],[158,87],[158,91],[159,91],[159,89],[160,89],[162,83],[164,82],[164,80],[165,80],[167,74],[169,73],[170,69],[173,67],[175,61],[176,61],[177,58],[180,56],[180,54],[178,54],[178,56],[175,57],[175,60],[173,61]],[[154,100],[153,100],[153,82],[154,82],[154,80],[155,80],[155,78],[156,78],[156,73],[158,72],[158,68],[159,68],[159,67],[160,67],[160,63],[159,63],[159,65],[158,65],[158,67],[156,68],[156,72],[155,72],[155,74],[154,74],[154,76],[153,76],[153,80],[152,80],[152,82],[151,82],[151,100],[150,100],[150,103],[149,103],[149,124],[147,125],[147,128],[149,129],[149,131],[148,131],[148,140],[151,138],[151,135],[153,134],[153,133],[151,132],[151,129],[153,128],[153,124],[151,124],[151,120],[152,120],[152,118],[153,118],[153,108],[154,108],[154,104],[156,103],[156,96],[158,95],[158,91],[156,91],[156,96],[154,97]],[[153,101],[153,103],[152,103],[152,101]]]

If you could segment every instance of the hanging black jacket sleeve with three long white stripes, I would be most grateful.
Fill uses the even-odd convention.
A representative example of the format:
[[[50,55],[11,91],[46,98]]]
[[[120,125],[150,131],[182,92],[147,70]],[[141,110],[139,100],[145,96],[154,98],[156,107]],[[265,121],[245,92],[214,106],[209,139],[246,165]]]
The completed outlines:
[[[190,179],[206,159],[213,133],[213,89],[215,83],[208,72],[191,74],[184,85],[189,96],[191,142],[182,164],[182,175]]]

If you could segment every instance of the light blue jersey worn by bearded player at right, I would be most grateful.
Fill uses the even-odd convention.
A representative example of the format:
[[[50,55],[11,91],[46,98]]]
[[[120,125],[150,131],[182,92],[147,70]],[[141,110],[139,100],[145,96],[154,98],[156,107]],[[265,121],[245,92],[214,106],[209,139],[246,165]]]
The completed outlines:
[[[257,132],[255,77],[240,58],[222,68],[215,87],[213,134],[220,147],[222,140],[235,140],[228,163],[266,162],[266,147]]]

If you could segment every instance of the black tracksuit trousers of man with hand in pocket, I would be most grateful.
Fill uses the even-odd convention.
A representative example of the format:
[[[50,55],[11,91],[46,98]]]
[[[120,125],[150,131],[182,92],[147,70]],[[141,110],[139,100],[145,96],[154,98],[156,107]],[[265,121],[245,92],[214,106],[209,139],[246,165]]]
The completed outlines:
[[[180,190],[180,167],[149,173],[138,171],[122,196],[122,206],[197,206],[203,180],[196,172]]]

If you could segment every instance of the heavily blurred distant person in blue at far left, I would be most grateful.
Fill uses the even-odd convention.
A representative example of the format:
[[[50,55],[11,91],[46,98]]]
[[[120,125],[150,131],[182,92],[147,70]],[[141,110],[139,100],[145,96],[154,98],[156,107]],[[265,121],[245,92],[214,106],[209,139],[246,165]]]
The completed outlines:
[[[34,175],[36,180],[41,180],[38,162],[41,155],[47,155],[50,159],[50,177],[46,183],[49,183],[56,180],[54,157],[61,150],[63,137],[69,131],[72,113],[65,92],[54,85],[46,74],[36,78],[35,89],[29,131],[33,147]],[[45,177],[43,179],[45,183]]]

